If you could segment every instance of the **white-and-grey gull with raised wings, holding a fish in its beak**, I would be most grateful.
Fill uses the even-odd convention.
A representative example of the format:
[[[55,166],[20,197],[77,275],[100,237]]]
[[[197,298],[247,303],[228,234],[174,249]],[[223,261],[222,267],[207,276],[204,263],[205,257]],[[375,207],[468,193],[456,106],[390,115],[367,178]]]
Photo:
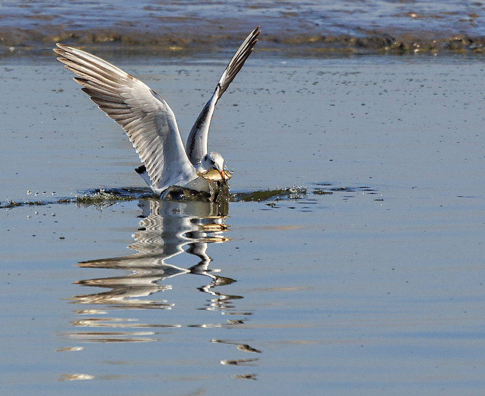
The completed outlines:
[[[217,101],[241,70],[260,33],[258,26],[239,46],[197,117],[185,147],[174,112],[145,83],[82,49],[56,44],[53,50],[60,55],[57,60],[77,76],[73,80],[82,91],[121,125],[142,162],[135,171],[163,198],[171,187],[210,192],[212,182],[226,182],[232,176],[224,170],[222,155],[208,151],[210,121]]]

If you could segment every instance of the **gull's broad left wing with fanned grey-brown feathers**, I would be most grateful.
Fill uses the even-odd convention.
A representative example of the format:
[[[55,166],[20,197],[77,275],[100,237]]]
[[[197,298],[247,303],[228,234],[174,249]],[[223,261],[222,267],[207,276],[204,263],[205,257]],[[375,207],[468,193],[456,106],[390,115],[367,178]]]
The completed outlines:
[[[175,115],[145,83],[81,49],[56,44],[57,59],[76,74],[74,81],[99,109],[121,125],[137,150],[153,185],[164,190],[196,177]]]

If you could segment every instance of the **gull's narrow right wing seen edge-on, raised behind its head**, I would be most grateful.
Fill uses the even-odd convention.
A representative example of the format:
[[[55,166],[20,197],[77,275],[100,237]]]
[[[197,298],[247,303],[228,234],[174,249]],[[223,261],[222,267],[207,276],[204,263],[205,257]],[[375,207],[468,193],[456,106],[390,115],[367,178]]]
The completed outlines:
[[[197,117],[189,137],[187,138],[187,144],[185,146],[185,151],[187,152],[187,156],[192,164],[195,165],[199,163],[202,160],[202,157],[207,154],[207,139],[209,136],[210,120],[212,119],[212,114],[214,113],[216,103],[241,70],[242,65],[251,54],[254,45],[257,43],[257,38],[260,33],[261,31],[259,30],[258,26],[251,33],[249,33],[246,40],[242,42],[229,62],[226,70],[224,70],[224,73],[217,83],[217,87],[212,97],[205,104],[202,112]]]

